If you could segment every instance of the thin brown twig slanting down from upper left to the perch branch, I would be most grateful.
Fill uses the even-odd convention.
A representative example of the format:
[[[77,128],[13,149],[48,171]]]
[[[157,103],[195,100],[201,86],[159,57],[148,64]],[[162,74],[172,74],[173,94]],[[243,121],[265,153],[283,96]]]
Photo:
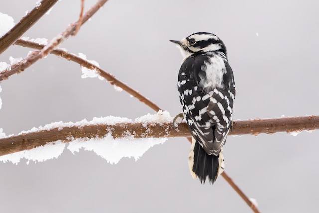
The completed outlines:
[[[38,44],[36,42],[31,42],[31,41],[25,41],[25,40],[22,40],[22,39],[17,40],[14,45],[19,45],[19,46],[33,48],[33,49],[42,49],[44,47],[44,45],[42,45],[42,44]],[[110,84],[118,86],[118,87],[121,87],[124,91],[128,92],[130,95],[132,95],[133,97],[137,98],[139,101],[145,103],[146,105],[151,107],[154,111],[157,112],[157,111],[160,110],[160,107],[158,107],[156,104],[154,104],[149,99],[145,98],[139,92],[137,92],[136,90],[132,89],[131,87],[129,87],[125,83],[123,83],[120,80],[118,80],[117,78],[115,78],[114,75],[104,71],[103,69],[101,69],[100,67],[90,63],[89,61],[87,61],[87,60],[85,60],[83,58],[80,58],[79,56],[77,56],[75,54],[69,53],[69,52],[61,50],[61,49],[54,49],[50,53],[54,54],[54,55],[57,55],[59,57],[65,58],[65,59],[67,59],[69,61],[73,61],[75,63],[78,63],[82,67],[86,67],[88,69],[97,70],[99,75],[102,76],[103,78],[105,78],[108,82],[110,82]]]

